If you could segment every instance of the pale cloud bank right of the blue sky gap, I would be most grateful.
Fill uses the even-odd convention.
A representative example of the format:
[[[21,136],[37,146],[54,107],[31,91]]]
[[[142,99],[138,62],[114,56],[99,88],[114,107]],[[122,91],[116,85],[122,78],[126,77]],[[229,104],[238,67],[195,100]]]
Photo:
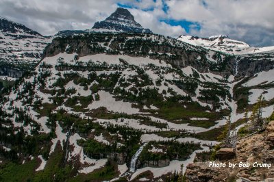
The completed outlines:
[[[169,18],[201,25],[201,31],[192,29],[190,34],[206,37],[227,34],[256,46],[273,45],[272,0],[171,0],[167,4]]]

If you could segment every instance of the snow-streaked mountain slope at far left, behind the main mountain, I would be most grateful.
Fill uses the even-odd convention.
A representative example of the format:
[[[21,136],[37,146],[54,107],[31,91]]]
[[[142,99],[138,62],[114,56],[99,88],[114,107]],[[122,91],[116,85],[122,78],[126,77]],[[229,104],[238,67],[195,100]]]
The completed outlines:
[[[46,38],[32,29],[5,18],[0,18],[0,75],[7,75],[7,67],[34,68],[51,38]],[[4,69],[5,68],[5,69]],[[12,77],[20,77],[10,73]]]

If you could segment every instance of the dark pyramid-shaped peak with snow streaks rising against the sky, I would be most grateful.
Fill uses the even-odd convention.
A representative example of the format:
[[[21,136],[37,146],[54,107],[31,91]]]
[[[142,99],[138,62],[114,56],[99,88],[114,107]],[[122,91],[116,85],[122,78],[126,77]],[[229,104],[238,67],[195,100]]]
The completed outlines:
[[[117,8],[105,21],[95,23],[92,29],[152,34],[150,29],[144,29],[134,20],[134,16],[124,8]]]

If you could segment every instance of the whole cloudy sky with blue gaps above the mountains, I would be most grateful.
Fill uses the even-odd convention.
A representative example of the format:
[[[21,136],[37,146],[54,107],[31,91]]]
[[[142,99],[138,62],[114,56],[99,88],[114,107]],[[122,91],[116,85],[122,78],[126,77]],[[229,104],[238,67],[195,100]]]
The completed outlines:
[[[0,16],[49,36],[90,29],[118,7],[165,36],[225,34],[252,46],[274,45],[274,0],[1,0]]]

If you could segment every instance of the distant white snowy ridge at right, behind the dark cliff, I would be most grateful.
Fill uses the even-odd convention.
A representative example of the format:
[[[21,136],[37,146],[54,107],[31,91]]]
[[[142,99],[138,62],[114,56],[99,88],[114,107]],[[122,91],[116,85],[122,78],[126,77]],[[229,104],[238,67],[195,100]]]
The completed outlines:
[[[177,39],[195,46],[234,55],[274,52],[274,47],[250,47],[249,44],[233,40],[226,35],[210,36],[209,38],[182,35]]]

